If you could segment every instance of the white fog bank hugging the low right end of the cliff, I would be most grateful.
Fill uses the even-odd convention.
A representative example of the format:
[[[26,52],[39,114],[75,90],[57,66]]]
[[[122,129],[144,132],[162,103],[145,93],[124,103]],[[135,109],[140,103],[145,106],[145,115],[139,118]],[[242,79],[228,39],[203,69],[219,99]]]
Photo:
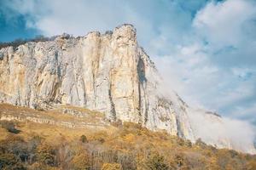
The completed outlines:
[[[228,144],[230,148],[245,151],[255,154],[253,149],[253,140],[255,139],[255,127],[249,122],[221,117],[216,121],[209,119],[212,115],[208,115],[203,111],[190,110],[189,120],[192,127],[195,129],[195,135],[201,138],[207,144],[212,144],[214,141],[221,144],[231,141]],[[214,144],[213,144],[214,145]]]

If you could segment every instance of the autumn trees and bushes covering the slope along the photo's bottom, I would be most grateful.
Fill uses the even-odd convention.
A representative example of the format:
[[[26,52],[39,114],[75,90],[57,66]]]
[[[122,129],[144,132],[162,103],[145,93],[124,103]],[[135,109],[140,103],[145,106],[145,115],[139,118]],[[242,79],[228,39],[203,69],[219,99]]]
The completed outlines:
[[[51,143],[37,134],[25,139],[13,122],[1,124],[9,135],[0,141],[0,169],[256,169],[255,156],[217,150],[201,140],[191,144],[130,122],[115,124],[117,131],[111,135],[99,131],[71,141],[63,136]]]

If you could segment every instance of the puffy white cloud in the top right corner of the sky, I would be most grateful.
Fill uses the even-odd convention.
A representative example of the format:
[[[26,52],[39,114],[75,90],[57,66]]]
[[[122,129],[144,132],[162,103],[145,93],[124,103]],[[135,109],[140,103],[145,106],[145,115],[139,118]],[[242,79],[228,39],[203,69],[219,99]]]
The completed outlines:
[[[211,2],[195,16],[193,26],[214,45],[237,46],[244,38],[244,25],[255,19],[253,1],[228,0]]]

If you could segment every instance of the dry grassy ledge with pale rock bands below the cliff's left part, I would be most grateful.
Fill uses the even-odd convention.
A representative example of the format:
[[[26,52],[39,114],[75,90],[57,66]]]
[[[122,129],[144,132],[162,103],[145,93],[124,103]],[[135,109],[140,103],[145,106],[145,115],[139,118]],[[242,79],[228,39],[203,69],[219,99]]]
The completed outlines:
[[[79,112],[82,116],[73,116],[70,113],[64,113],[64,110]],[[15,116],[22,121],[39,120],[40,122],[49,122],[49,124],[65,125],[72,127],[105,127],[108,122],[103,121],[103,114],[97,111],[73,107],[69,105],[60,105],[49,111],[37,111],[26,107],[0,104],[0,117]]]

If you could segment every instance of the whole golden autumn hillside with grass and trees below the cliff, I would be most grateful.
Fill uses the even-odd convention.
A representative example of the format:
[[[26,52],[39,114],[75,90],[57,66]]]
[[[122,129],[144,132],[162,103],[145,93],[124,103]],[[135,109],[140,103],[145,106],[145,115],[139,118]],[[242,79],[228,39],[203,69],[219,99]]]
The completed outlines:
[[[99,112],[70,105],[36,111],[1,104],[0,116],[0,169],[256,168],[256,156],[201,140],[191,144],[132,122],[110,123]]]

